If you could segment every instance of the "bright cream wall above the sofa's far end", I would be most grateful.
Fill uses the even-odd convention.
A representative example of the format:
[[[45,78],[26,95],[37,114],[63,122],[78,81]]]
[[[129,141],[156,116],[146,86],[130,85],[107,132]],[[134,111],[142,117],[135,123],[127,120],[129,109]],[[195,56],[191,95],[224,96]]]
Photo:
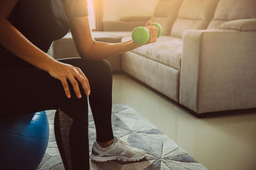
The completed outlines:
[[[159,0],[104,0],[103,20],[127,16],[151,16]]]

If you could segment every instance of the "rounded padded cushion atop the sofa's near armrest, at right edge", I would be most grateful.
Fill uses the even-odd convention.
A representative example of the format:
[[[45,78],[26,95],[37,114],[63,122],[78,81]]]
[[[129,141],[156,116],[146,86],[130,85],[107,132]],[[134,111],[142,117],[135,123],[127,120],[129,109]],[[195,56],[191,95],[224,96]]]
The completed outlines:
[[[219,29],[236,31],[256,31],[256,19],[231,20],[220,25]]]

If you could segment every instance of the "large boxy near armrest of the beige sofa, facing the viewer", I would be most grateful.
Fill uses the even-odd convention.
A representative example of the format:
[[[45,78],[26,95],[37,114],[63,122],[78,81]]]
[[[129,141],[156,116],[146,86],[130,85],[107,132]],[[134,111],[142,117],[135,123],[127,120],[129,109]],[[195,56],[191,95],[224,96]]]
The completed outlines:
[[[256,108],[256,31],[183,34],[180,104],[196,113]]]

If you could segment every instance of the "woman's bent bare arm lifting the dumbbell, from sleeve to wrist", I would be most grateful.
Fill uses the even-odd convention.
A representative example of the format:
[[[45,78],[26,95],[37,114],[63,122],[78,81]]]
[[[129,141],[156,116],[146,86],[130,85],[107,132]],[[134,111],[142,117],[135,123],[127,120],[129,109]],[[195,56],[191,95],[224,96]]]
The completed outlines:
[[[73,17],[70,21],[70,30],[77,52],[80,57],[87,60],[106,59],[141,46],[132,40],[122,43],[95,41],[92,37],[88,17]]]

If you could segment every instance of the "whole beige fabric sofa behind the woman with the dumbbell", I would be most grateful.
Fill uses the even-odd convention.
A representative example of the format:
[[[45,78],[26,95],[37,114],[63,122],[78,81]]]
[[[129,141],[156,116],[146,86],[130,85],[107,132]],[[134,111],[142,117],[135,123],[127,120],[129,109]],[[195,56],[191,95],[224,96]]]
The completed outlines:
[[[198,114],[256,108],[255,6],[255,0],[160,0],[154,16],[103,22],[104,32],[93,34],[127,41],[131,32],[124,31],[148,18],[159,22],[163,36],[113,57],[114,69]]]

